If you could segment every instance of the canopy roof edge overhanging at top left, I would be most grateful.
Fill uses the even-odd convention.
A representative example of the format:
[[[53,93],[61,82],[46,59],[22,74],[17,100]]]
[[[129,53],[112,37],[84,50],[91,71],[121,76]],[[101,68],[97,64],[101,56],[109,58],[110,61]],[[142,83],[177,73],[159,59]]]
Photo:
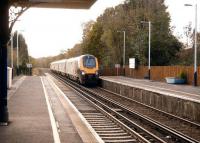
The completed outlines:
[[[9,0],[12,6],[88,9],[96,0]]]

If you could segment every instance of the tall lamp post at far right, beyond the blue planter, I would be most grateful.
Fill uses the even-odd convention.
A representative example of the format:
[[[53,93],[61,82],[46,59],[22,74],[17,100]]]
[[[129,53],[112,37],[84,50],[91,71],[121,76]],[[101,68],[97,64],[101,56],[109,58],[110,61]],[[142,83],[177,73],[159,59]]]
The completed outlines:
[[[185,4],[185,6],[193,6]],[[195,29],[194,29],[194,81],[193,85],[197,86],[197,3],[195,4]]]

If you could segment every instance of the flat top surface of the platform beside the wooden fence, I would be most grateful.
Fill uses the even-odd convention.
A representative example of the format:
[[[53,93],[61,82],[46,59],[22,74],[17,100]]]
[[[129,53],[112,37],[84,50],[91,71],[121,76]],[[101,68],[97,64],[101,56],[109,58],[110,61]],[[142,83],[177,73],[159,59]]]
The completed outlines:
[[[124,76],[101,76],[102,80],[120,83],[164,95],[175,96],[178,98],[191,100],[200,103],[200,87],[181,84],[167,84],[146,79],[134,79]]]

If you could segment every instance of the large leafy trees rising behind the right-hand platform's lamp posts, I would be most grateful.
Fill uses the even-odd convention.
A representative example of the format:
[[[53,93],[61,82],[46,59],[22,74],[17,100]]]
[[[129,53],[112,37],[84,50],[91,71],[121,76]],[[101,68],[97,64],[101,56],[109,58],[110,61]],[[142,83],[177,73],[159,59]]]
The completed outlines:
[[[126,31],[126,61],[138,58],[146,65],[148,59],[148,26],[141,21],[152,22],[152,65],[173,64],[182,45],[170,29],[170,16],[163,0],[126,0],[115,8],[108,8],[89,23],[83,36],[83,53],[97,56],[103,65],[122,64],[123,35]],[[126,62],[126,64],[128,64]]]

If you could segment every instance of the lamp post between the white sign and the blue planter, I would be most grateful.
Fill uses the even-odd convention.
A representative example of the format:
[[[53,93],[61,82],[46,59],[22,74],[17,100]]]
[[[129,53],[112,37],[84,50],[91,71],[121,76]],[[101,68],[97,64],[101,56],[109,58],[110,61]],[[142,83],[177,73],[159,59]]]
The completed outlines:
[[[151,21],[141,21],[149,25],[149,54],[148,54],[148,79],[151,79]]]

